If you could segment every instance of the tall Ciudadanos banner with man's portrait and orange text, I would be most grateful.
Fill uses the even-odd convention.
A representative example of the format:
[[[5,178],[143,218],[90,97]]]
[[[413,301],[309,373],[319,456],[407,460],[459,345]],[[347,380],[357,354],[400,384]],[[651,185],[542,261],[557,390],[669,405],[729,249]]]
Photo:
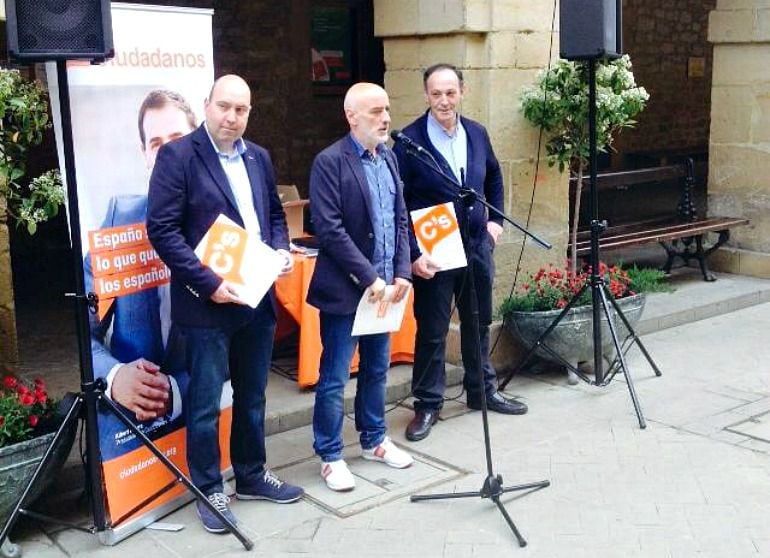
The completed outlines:
[[[115,57],[67,63],[86,291],[96,378],[107,395],[185,473],[184,340],[169,315],[169,270],[147,239],[148,180],[158,149],[194,130],[214,79],[211,10],[112,4]],[[57,84],[48,68],[54,113]],[[61,119],[55,118],[59,161]],[[146,386],[159,385],[147,397]],[[168,399],[158,398],[168,389]],[[152,415],[134,414],[132,402]],[[159,405],[160,409],[154,409]],[[220,440],[229,469],[232,390],[222,397]],[[99,410],[104,492],[114,544],[190,500],[182,485],[117,418]],[[146,505],[138,508],[144,502]]]

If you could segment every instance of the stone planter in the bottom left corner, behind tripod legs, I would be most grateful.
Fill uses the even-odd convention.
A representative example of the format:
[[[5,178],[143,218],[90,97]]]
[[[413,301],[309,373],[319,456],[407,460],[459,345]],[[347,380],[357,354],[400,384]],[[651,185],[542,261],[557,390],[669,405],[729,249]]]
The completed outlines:
[[[75,441],[77,422],[63,434],[59,446],[54,450],[54,455],[42,471],[40,481],[33,487],[25,507],[29,507],[42,492],[51,485],[56,473],[64,465],[69,456],[72,444]],[[0,448],[0,529],[11,515],[16,502],[27,487],[32,478],[46,448],[54,438],[55,432],[38,436],[26,442],[19,442]],[[6,538],[0,547],[0,556],[4,558],[16,558],[21,556],[21,549]]]

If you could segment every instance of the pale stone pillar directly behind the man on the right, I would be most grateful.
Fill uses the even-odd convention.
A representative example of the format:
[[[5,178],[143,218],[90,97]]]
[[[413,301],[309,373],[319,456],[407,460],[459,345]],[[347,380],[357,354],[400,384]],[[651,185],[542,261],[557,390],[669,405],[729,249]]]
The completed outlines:
[[[385,89],[393,128],[403,128],[427,108],[422,85],[425,68],[437,62],[460,67],[466,87],[462,112],[489,131],[502,166],[506,211],[554,246],[545,251],[531,240],[526,242],[519,282],[547,262],[563,262],[568,236],[567,176],[548,167],[544,150],[536,163],[538,130],[519,111],[522,88],[534,84],[548,64],[554,3],[374,0],[374,8],[375,35],[384,39]],[[555,60],[558,36],[553,39]],[[495,305],[510,293],[523,242],[524,237],[507,225],[495,252]],[[510,340],[507,336],[503,340],[493,354],[498,368],[511,362]],[[447,352],[448,360],[457,360],[455,328]]]

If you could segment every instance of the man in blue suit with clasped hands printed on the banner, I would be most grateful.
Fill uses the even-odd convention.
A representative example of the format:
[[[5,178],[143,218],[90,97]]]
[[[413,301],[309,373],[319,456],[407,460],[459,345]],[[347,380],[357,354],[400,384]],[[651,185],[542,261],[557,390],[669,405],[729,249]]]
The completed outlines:
[[[196,128],[195,113],[179,93],[150,91],[139,107],[139,145],[148,171],[158,149]],[[110,199],[101,228],[144,223],[147,195]],[[86,292],[94,290],[91,258],[84,262]],[[94,376],[107,382],[105,394],[123,407],[151,439],[181,424],[181,393],[187,385],[184,342],[170,323],[168,286],[116,297],[106,315],[90,314]],[[112,413],[99,411],[102,460],[136,449],[141,443]]]

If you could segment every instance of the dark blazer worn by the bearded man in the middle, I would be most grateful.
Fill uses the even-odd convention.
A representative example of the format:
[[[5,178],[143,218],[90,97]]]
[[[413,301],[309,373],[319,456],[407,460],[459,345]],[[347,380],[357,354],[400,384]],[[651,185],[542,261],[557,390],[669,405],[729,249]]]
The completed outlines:
[[[389,149],[383,153],[396,185],[394,275],[411,279],[404,187],[393,153]],[[308,303],[331,314],[355,313],[364,290],[377,279],[371,264],[372,211],[376,209],[369,199],[363,164],[350,136],[345,136],[321,151],[310,171],[310,212],[319,252]]]

